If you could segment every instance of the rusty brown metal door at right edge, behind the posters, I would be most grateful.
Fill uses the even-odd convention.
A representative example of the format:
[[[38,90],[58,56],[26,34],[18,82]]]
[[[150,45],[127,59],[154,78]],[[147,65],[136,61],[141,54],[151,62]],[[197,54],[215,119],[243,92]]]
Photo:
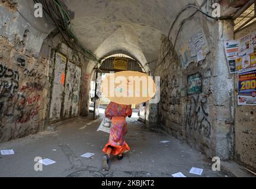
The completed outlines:
[[[256,30],[256,24],[236,32],[235,39]],[[238,74],[235,74],[235,159],[256,170],[256,107],[237,106]]]

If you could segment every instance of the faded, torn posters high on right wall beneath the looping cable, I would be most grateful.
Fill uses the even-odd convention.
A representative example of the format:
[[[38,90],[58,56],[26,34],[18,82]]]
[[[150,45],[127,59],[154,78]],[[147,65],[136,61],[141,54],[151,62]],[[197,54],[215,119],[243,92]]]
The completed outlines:
[[[192,62],[204,60],[207,53],[209,53],[207,40],[203,30],[200,30],[180,48],[180,61],[183,69],[186,69]]]

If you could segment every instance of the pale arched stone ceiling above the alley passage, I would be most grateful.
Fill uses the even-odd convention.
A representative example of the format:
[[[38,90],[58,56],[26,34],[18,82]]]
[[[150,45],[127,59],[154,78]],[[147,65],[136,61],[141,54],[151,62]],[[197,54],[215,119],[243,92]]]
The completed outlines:
[[[72,20],[74,33],[98,58],[103,58],[112,51],[124,51],[145,64],[158,58],[161,35],[168,34],[178,12],[195,1],[65,0],[64,2],[74,14]]]

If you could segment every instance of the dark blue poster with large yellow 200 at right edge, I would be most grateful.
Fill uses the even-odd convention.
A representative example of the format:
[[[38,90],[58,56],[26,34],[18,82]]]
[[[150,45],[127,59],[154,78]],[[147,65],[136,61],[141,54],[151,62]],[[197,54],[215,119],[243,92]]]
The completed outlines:
[[[238,105],[256,105],[256,70],[239,73]]]

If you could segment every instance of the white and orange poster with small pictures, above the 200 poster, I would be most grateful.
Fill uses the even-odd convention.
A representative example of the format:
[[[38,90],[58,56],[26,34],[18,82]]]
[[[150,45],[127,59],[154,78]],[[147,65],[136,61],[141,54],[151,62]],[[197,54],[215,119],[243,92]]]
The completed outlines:
[[[225,51],[231,73],[256,69],[256,32],[239,40],[225,41]]]

